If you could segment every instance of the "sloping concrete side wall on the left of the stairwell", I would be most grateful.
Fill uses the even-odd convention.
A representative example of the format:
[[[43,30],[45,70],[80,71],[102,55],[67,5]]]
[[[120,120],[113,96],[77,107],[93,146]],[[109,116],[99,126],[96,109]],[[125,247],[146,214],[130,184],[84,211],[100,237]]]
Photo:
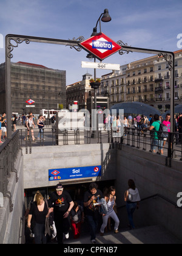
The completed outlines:
[[[0,208],[0,244],[21,243],[21,223],[24,212],[24,180],[23,158],[19,151],[15,163],[18,171],[18,182],[15,172],[8,179],[8,191],[12,194],[13,212],[10,213],[10,205],[7,197],[4,197],[4,207]]]

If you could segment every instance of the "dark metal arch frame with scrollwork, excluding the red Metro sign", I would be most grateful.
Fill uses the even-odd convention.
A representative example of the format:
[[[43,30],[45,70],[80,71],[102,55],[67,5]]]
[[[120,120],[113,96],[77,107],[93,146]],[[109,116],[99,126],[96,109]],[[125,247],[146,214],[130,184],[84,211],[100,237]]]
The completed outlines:
[[[19,44],[30,42],[36,43],[50,43],[50,44],[61,44],[70,46],[70,48],[76,49],[76,51],[81,51],[82,47],[79,43],[84,41],[84,37],[73,38],[72,40],[61,40],[53,38],[43,38],[43,37],[31,37],[25,35],[13,35],[8,34],[5,37],[5,95],[6,95],[6,112],[7,112],[7,138],[12,137],[11,130],[11,116],[12,116],[12,103],[11,103],[11,59],[13,58],[13,50],[17,48]],[[118,41],[118,44],[121,46],[119,51],[120,55],[129,52],[141,52],[147,54],[155,54],[159,57],[164,57],[164,59],[169,63],[170,71],[170,113],[171,113],[171,132],[174,132],[174,108],[175,108],[175,97],[174,97],[174,84],[175,84],[175,55],[174,52],[168,51],[158,51],[154,49],[144,49],[144,48],[135,48],[132,46],[127,46],[123,41]],[[92,54],[93,55],[93,54]],[[95,56],[96,57],[96,56]]]

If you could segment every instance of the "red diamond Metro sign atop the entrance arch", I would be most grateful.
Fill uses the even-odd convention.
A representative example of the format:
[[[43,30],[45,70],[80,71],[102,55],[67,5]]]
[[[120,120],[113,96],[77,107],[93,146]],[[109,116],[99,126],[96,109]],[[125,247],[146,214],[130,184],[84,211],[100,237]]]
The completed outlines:
[[[91,52],[99,60],[104,60],[110,55],[121,50],[121,46],[104,33],[99,33],[80,43],[86,51]]]

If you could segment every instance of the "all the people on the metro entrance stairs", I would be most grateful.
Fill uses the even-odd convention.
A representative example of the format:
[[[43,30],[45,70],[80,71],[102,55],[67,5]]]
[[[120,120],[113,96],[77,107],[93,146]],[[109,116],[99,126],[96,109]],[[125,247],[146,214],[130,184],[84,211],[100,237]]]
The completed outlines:
[[[133,213],[139,207],[141,199],[133,180],[129,180],[128,186],[123,196],[129,219],[128,226],[130,229],[135,229]],[[96,243],[98,228],[101,236],[107,232],[107,226],[111,230],[111,219],[114,222],[114,233],[119,233],[120,219],[116,210],[115,187],[105,188],[102,193],[98,185],[92,182],[89,190],[83,194],[83,206],[79,202],[81,201],[74,202],[72,200],[61,183],[56,185],[55,191],[50,194],[48,201],[37,191],[25,213],[27,227],[31,230],[34,242],[45,244],[48,241],[47,238],[52,238],[56,239],[56,243],[62,244],[64,239],[69,238],[70,227],[72,227],[73,237],[76,240],[81,235],[81,225],[86,219],[89,224],[87,233],[90,234],[90,241],[93,244]]]

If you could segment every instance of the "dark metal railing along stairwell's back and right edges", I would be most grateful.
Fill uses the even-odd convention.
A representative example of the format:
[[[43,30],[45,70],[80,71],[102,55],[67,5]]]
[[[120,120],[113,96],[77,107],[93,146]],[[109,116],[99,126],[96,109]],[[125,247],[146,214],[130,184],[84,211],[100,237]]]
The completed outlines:
[[[19,130],[21,146],[26,148],[26,153],[32,153],[33,146],[56,146],[69,144],[90,144],[90,143],[119,143],[132,146],[132,148],[150,151],[156,146],[157,154],[164,154],[167,158],[177,158],[182,161],[182,133],[167,133],[167,138],[161,137],[161,132],[125,128],[124,135],[116,130],[59,130],[46,128],[39,133],[39,129],[33,130],[38,140],[32,140],[32,134],[27,136],[27,130]],[[40,137],[41,136],[41,137]],[[40,138],[39,138],[40,137]],[[156,138],[157,137],[157,138]],[[161,143],[161,144],[160,144]],[[111,145],[113,148],[113,145]],[[163,148],[161,151],[160,148]]]

